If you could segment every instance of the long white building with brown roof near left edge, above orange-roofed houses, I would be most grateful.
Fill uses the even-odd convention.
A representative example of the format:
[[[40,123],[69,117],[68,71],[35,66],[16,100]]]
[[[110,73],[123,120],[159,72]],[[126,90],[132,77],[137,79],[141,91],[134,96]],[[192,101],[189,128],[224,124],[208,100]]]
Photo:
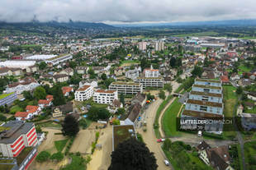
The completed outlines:
[[[17,94],[21,94],[23,91],[34,90],[39,85],[40,84],[33,77],[26,77],[18,82],[9,84],[4,93],[16,92]]]

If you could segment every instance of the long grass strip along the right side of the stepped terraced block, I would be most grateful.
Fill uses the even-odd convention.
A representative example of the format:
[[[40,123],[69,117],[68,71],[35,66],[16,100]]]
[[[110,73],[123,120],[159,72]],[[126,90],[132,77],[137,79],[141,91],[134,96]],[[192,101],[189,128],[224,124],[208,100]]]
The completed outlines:
[[[235,94],[235,87],[232,85],[223,85],[224,90],[224,116],[233,117],[236,112],[237,95]],[[233,125],[224,125],[223,137],[225,139],[234,139],[236,136],[235,127]],[[234,129],[234,131],[225,131],[227,129]]]

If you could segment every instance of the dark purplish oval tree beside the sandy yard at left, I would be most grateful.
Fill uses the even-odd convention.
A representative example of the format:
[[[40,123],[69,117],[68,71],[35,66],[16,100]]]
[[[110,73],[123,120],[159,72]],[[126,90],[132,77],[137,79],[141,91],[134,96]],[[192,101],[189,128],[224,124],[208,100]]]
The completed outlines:
[[[79,131],[78,121],[72,115],[67,115],[62,123],[62,133],[64,136],[76,136]]]

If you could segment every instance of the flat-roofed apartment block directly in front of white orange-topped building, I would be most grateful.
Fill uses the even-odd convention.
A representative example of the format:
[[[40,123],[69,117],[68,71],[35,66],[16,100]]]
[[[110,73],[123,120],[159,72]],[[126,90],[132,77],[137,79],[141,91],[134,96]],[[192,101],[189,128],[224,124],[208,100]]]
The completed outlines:
[[[161,77],[137,77],[135,79],[135,83],[140,83],[143,85],[143,89],[146,87],[154,87],[154,88],[163,88],[164,87],[164,79]]]

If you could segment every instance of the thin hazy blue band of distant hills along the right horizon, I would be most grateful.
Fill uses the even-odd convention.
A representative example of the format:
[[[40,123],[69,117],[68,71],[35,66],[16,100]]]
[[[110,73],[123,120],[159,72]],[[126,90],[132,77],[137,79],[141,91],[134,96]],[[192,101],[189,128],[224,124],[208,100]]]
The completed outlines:
[[[144,23],[144,24],[120,24],[116,27],[147,27],[147,26],[189,26],[189,25],[256,25],[256,20],[225,20],[225,21],[191,21],[191,22],[173,22],[173,23]]]

